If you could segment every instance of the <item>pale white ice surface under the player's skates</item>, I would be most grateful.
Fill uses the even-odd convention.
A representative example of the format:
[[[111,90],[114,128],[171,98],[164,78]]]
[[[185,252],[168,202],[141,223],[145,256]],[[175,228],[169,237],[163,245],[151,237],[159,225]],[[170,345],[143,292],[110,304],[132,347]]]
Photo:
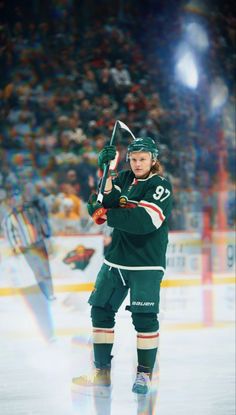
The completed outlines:
[[[92,369],[87,297],[0,297],[1,415],[235,415],[234,286],[162,290],[159,367],[146,397],[131,392],[136,339],[117,316],[112,387],[73,392]]]

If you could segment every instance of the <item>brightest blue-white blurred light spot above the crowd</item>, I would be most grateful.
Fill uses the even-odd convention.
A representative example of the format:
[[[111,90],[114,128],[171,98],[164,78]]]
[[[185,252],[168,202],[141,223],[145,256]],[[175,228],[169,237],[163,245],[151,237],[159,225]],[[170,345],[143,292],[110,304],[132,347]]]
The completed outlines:
[[[176,79],[188,88],[195,89],[198,85],[197,64],[191,49],[181,45],[177,53],[175,66]]]

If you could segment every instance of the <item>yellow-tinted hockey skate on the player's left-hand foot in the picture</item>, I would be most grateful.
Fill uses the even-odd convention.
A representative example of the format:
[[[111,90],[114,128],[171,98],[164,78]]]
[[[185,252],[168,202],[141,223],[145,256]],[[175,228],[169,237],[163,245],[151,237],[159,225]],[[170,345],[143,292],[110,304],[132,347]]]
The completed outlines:
[[[111,370],[95,369],[91,375],[82,375],[72,379],[72,391],[107,397],[111,386]]]

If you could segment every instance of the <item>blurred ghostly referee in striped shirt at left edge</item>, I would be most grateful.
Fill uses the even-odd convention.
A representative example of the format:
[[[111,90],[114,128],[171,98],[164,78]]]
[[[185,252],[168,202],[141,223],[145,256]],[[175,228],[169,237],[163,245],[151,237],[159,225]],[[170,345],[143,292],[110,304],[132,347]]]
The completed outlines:
[[[22,253],[47,300],[55,299],[45,238],[51,236],[45,203],[36,195],[25,198],[17,185],[6,186],[2,227],[14,253]]]

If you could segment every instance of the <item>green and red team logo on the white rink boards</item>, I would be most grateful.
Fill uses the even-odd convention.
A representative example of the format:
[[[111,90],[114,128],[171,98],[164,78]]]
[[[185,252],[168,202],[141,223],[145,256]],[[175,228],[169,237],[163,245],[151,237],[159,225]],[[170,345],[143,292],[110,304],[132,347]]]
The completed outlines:
[[[83,271],[89,264],[94,252],[95,250],[92,248],[78,245],[75,249],[68,252],[65,258],[63,258],[63,262],[72,269],[81,269]]]

